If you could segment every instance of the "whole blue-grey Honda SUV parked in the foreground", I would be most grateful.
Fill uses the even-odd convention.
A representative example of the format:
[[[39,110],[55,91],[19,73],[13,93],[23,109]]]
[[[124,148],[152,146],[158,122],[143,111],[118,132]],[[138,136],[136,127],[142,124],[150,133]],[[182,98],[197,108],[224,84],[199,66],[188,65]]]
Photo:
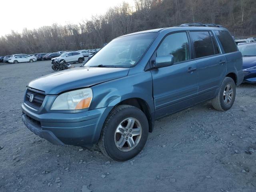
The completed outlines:
[[[234,103],[242,54],[226,28],[182,24],[115,38],[81,67],[31,81],[22,120],[53,144],[98,143],[117,161],[136,156],[155,120],[211,100]]]

